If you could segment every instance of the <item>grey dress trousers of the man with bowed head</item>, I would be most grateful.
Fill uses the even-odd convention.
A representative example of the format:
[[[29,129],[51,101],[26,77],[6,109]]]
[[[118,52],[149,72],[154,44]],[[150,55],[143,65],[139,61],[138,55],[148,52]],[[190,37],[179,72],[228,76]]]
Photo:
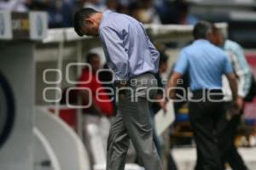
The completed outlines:
[[[162,170],[153,142],[148,101],[156,94],[157,81],[153,74],[144,73],[131,78],[125,88],[125,94],[117,101],[119,111],[111,122],[107,170],[125,169],[130,139],[146,170]]]

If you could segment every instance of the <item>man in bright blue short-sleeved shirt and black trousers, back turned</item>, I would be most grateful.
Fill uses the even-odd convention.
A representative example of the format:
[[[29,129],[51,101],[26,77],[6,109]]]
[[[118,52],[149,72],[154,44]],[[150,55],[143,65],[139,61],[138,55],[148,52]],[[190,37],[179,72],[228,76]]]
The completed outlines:
[[[195,25],[195,41],[180,52],[166,89],[168,97],[175,99],[177,81],[188,71],[189,88],[192,92],[189,99],[189,119],[195,135],[196,170],[224,169],[217,143],[218,120],[224,114],[223,75],[230,82],[235,104],[237,99],[236,77],[232,66],[224,51],[207,41],[211,33],[210,23],[200,21]]]

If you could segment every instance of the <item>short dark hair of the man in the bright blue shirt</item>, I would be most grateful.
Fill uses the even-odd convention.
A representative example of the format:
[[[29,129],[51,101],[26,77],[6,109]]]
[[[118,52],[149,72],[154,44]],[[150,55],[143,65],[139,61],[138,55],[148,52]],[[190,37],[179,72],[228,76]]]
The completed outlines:
[[[194,30],[193,30],[193,36],[195,39],[207,39],[207,33],[212,31],[212,25],[210,22],[201,20],[198,23],[196,23]]]

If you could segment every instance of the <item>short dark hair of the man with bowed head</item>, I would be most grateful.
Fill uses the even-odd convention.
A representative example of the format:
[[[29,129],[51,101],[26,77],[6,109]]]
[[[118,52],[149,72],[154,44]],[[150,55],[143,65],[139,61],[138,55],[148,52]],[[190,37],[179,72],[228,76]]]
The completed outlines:
[[[81,28],[83,26],[83,19],[89,18],[92,14],[96,13],[98,13],[98,11],[93,8],[82,8],[74,14],[73,27],[80,37],[84,36],[81,32]]]

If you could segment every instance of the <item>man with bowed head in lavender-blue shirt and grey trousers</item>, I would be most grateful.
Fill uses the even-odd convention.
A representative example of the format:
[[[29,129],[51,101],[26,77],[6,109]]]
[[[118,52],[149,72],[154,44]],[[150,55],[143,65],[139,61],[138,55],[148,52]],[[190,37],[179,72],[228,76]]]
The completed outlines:
[[[125,14],[83,8],[74,16],[79,36],[99,37],[119,92],[118,114],[108,137],[107,170],[125,168],[130,139],[147,170],[161,170],[149,121],[148,98],[156,94],[159,52],[143,25]],[[123,89],[123,90],[121,90]]]

